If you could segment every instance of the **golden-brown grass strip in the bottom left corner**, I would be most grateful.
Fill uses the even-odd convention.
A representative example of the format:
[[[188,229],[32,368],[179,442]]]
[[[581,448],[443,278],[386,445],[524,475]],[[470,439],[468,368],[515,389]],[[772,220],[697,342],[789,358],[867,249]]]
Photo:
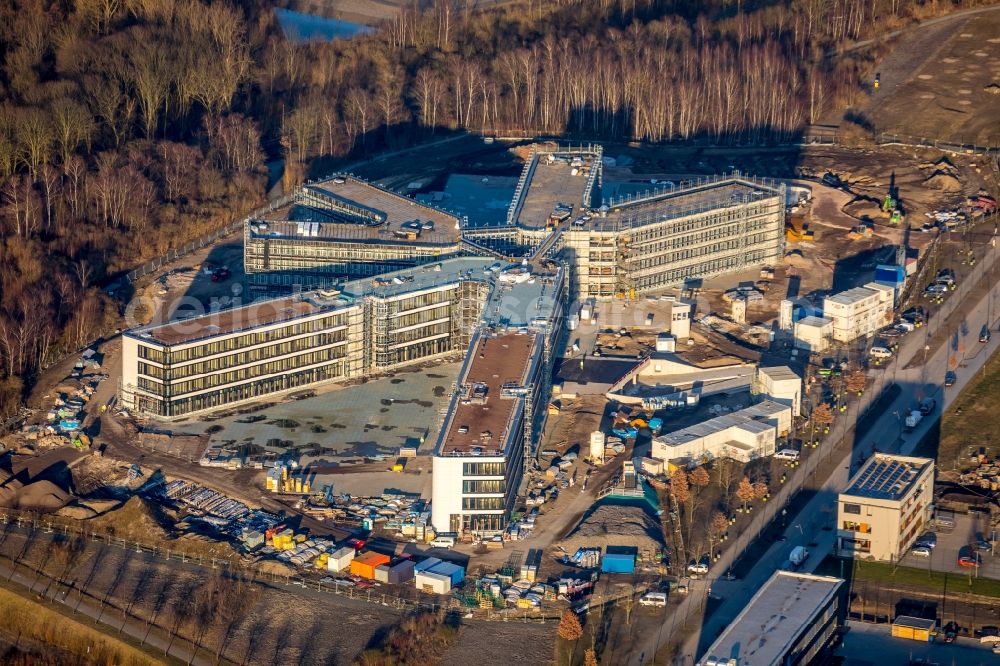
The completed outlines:
[[[17,642],[17,651],[29,660],[26,663],[31,659],[40,663],[72,659],[77,664],[155,666],[176,661],[147,655],[84,621],[3,588],[0,588],[0,634],[6,643]],[[32,647],[29,650],[24,646]],[[45,654],[39,654],[39,650]]]

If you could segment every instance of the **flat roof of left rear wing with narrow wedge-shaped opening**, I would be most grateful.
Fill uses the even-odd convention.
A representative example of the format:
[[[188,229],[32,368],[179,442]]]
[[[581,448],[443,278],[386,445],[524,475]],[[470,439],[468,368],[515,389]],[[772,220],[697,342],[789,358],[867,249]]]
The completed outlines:
[[[459,218],[347,175],[307,183],[292,203],[252,220],[258,238],[447,245],[459,242]]]

